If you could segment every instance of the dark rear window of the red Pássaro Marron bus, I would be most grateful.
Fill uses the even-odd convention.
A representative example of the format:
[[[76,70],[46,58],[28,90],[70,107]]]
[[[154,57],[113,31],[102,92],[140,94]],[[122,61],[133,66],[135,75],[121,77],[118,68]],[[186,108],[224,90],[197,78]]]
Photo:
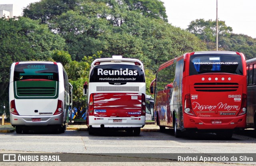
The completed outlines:
[[[238,54],[194,54],[190,56],[189,75],[220,72],[243,75],[241,56]]]

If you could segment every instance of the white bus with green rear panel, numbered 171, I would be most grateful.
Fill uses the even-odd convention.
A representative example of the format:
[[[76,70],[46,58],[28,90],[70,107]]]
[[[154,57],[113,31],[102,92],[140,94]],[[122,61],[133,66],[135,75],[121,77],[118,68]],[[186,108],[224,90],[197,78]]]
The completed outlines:
[[[63,133],[72,105],[72,85],[61,63],[16,62],[11,66],[9,102],[16,133],[42,127]]]

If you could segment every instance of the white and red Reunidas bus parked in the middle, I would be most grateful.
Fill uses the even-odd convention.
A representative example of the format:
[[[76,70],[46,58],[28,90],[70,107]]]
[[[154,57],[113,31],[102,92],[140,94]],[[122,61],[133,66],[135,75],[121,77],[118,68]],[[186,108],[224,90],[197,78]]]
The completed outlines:
[[[89,134],[97,128],[140,134],[146,118],[146,83],[142,62],[122,56],[92,62],[88,95]]]

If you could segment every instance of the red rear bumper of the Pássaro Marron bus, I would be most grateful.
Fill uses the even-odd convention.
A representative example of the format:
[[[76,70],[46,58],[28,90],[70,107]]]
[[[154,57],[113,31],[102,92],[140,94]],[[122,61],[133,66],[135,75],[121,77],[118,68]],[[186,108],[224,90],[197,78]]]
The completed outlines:
[[[246,127],[246,114],[236,117],[194,117],[184,115],[184,128],[207,129],[235,129]]]

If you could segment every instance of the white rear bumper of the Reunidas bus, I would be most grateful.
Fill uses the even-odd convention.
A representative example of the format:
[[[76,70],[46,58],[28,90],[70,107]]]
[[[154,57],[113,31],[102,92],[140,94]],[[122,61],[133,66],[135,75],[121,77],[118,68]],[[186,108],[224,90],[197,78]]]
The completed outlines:
[[[145,125],[146,116],[129,118],[103,118],[89,116],[89,125],[92,128],[142,128]]]

